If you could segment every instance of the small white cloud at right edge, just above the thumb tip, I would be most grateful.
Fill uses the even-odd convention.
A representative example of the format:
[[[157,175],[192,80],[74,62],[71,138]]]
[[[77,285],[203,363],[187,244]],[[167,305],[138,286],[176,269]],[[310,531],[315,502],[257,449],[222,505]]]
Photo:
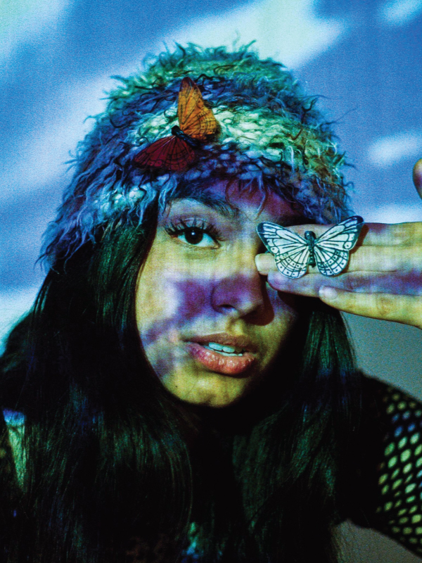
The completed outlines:
[[[422,132],[400,132],[381,137],[368,147],[371,164],[388,168],[402,160],[421,158]]]

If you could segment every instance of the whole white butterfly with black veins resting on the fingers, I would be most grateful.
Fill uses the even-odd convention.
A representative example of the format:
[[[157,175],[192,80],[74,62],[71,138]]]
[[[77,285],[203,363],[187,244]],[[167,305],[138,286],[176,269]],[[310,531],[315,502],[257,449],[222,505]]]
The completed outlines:
[[[274,254],[281,274],[297,279],[306,274],[308,266],[316,266],[324,276],[336,276],[345,269],[363,224],[362,217],[354,215],[318,238],[312,231],[306,231],[303,238],[279,224],[263,222],[257,226],[257,233]]]

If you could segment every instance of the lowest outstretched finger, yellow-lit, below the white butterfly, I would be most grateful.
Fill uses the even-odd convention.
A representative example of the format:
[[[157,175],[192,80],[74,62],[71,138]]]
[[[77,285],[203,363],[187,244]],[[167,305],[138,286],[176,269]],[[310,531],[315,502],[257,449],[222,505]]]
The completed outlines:
[[[385,293],[352,293],[324,286],[319,291],[321,301],[344,312],[362,317],[411,324],[422,328],[422,303],[420,298],[388,295]]]

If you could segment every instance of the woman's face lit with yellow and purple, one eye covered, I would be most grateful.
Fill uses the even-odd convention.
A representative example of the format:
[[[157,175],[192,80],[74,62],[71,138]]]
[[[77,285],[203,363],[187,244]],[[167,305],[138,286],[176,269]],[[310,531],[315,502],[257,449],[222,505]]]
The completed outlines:
[[[226,407],[256,388],[295,323],[293,296],[257,272],[262,221],[292,224],[290,205],[270,194],[216,182],[172,201],[136,287],[146,358],[170,393]]]

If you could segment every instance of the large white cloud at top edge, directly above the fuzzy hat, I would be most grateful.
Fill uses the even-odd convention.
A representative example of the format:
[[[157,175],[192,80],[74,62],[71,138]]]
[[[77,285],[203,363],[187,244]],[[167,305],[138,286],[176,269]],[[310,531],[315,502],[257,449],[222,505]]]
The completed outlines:
[[[329,49],[348,30],[345,20],[316,14],[319,0],[261,0],[225,13],[198,18],[175,31],[168,42],[203,46],[254,39],[260,56],[298,68]]]

